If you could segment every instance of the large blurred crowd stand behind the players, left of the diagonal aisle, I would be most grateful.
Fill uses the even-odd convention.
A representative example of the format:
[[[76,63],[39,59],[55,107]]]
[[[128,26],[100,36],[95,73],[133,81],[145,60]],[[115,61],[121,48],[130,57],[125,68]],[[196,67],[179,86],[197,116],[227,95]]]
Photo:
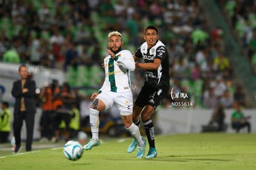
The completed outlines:
[[[170,95],[164,108],[185,100],[200,108],[232,108],[236,102],[246,107],[224,54],[221,28],[208,25],[197,0],[13,0],[1,1],[0,16],[0,61],[62,69],[67,85],[80,88],[101,84],[107,45],[103,37],[108,32],[121,32],[125,48],[135,53],[145,26],[156,25],[168,48],[169,91],[189,96],[173,100]],[[143,85],[143,74],[140,69],[134,72],[134,96]],[[71,91],[85,95],[83,99],[92,94]]]

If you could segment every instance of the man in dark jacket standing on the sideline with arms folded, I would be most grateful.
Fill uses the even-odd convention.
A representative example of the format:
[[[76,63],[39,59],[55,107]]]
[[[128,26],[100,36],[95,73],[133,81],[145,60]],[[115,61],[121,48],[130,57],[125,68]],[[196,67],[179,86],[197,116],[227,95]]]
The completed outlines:
[[[20,80],[14,82],[12,86],[12,96],[15,98],[14,105],[14,137],[15,137],[15,150],[14,153],[19,153],[21,150],[20,132],[22,129],[23,120],[26,123],[27,140],[26,151],[32,150],[33,129],[35,122],[35,82],[28,78],[27,66],[21,65],[19,67]]]

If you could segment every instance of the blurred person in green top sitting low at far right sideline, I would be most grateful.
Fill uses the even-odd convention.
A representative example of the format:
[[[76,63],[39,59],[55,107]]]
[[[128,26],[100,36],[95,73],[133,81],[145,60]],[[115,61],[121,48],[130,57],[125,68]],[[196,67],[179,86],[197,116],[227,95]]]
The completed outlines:
[[[250,117],[245,117],[244,112],[242,111],[241,104],[236,105],[236,110],[232,113],[231,116],[231,125],[233,129],[236,130],[237,133],[244,128],[247,127],[247,132],[250,133],[250,122],[248,121]]]

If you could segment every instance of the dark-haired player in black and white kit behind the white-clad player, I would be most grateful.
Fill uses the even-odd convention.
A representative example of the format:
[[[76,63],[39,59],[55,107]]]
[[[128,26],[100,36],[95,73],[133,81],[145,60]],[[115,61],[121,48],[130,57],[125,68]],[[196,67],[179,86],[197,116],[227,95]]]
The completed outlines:
[[[140,58],[144,59],[144,62],[137,62],[135,66],[145,69],[146,77],[142,90],[135,101],[132,119],[134,124],[139,126],[141,117],[150,147],[146,158],[155,158],[157,152],[151,116],[156,107],[168,95],[169,59],[165,45],[158,40],[158,29],[155,26],[149,25],[145,28],[144,40],[145,43],[134,54],[135,61]],[[132,153],[136,147],[137,142],[133,140],[127,148],[127,152]]]

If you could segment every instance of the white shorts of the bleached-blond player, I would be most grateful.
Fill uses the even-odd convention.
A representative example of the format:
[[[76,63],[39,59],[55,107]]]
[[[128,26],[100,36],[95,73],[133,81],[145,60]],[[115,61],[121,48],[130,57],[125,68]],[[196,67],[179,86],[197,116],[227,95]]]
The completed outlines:
[[[116,103],[121,115],[128,116],[132,114],[132,108],[134,106],[134,103],[132,100],[131,91],[122,93],[116,93],[113,91],[102,91],[96,98],[105,103],[106,109],[111,108],[113,104]]]

